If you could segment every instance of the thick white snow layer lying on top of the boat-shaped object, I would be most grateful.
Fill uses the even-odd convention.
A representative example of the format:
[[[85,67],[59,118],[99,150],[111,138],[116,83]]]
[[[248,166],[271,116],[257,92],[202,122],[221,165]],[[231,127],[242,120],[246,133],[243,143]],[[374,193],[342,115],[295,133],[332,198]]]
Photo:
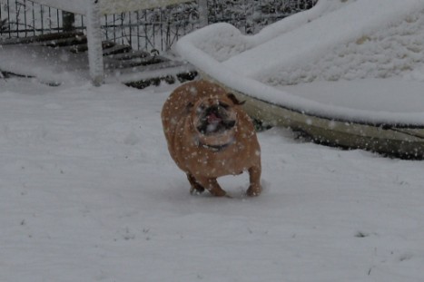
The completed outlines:
[[[423,11],[419,0],[321,0],[252,36],[230,24],[208,26],[183,37],[176,51],[213,79],[262,101],[347,121],[418,125],[422,111],[331,105],[281,86],[389,77],[422,83]],[[401,94],[409,101],[408,92]],[[363,103],[374,99],[369,92]],[[399,92],[383,99],[396,103]]]

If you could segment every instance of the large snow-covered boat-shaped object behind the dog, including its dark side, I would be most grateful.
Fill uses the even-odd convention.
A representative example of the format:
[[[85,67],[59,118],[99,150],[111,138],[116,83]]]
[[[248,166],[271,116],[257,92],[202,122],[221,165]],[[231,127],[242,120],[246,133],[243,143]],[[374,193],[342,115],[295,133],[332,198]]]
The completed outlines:
[[[417,107],[424,94],[416,91],[424,89],[421,0],[320,0],[256,35],[208,26],[183,37],[176,51],[245,96],[247,111],[263,122],[332,145],[424,157],[424,109]],[[304,83],[311,87],[288,86]]]

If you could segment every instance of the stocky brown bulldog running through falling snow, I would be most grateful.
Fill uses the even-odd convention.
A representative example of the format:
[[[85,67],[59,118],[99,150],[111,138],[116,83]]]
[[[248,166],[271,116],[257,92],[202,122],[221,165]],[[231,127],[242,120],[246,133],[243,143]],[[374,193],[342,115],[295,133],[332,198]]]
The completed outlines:
[[[204,80],[176,88],[162,110],[168,150],[187,174],[192,193],[227,195],[223,175],[249,171],[247,195],[261,193],[261,149],[249,116],[232,93]]]

